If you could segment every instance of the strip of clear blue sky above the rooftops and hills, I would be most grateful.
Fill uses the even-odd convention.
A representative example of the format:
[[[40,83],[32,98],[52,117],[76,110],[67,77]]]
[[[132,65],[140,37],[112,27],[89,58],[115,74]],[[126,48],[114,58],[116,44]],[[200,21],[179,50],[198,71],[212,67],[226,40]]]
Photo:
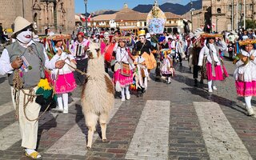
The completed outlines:
[[[83,0],[74,0],[75,13],[85,13],[85,5]],[[165,2],[179,3],[186,5],[190,0],[158,0],[158,4]],[[124,3],[127,3],[129,8],[134,8],[138,4],[153,4],[154,0],[88,0],[87,12],[96,10],[121,10]]]

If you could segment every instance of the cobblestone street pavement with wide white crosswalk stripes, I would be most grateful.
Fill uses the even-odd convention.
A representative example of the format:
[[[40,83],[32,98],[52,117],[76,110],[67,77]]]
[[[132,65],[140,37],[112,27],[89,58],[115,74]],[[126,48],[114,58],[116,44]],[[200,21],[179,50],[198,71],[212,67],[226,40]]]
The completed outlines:
[[[86,150],[87,129],[79,102],[81,87],[70,94],[69,114],[55,110],[39,120],[38,151],[43,159],[256,159],[256,118],[246,116],[234,88],[234,66],[209,94],[206,82],[194,87],[183,62],[171,84],[149,82],[143,97],[115,106],[107,126],[108,142],[94,134]],[[152,74],[154,78],[154,74]],[[0,159],[24,156],[6,77],[0,77]],[[255,99],[253,98],[255,106]]]

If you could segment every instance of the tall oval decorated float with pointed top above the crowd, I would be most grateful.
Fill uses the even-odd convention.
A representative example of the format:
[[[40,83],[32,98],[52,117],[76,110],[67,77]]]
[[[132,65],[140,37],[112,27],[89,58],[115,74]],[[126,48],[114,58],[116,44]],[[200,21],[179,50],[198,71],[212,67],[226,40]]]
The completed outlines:
[[[166,25],[166,15],[159,8],[158,1],[154,1],[154,6],[147,15],[146,24],[150,33],[163,34]]]

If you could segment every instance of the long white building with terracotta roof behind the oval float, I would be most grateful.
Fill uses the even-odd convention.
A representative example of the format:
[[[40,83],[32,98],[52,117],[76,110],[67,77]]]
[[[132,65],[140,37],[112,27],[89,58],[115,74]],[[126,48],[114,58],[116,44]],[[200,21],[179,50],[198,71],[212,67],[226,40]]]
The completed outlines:
[[[166,12],[166,30],[181,30],[183,32],[183,18],[180,15]],[[88,26],[101,28],[138,29],[146,28],[147,13],[131,10],[125,4],[122,10],[115,14],[101,14],[90,19]]]

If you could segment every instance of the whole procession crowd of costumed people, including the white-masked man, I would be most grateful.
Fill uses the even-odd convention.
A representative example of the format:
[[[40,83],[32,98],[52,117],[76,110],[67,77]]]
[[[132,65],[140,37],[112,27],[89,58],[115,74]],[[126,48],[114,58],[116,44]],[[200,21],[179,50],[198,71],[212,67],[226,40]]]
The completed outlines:
[[[194,86],[198,86],[200,75],[200,82],[206,79],[212,93],[217,90],[216,81],[229,76],[223,62],[224,53],[229,53],[237,66],[237,94],[245,98],[248,115],[254,114],[251,98],[256,95],[256,40],[246,30],[242,34],[208,34],[201,28],[190,34],[101,30],[89,35],[81,28],[73,34],[54,34],[46,29],[47,37],[42,39],[35,33],[30,22],[16,18],[11,36],[14,41],[0,58],[0,74],[8,74],[22,147],[28,157],[42,158],[35,150],[41,106],[48,110],[56,99],[57,110],[68,114],[69,93],[86,83],[91,43],[98,43],[98,52],[105,59],[102,66],[106,73],[113,73],[114,88],[121,93],[121,101],[130,99],[130,90],[137,96],[146,93],[151,78],[170,84],[175,76],[174,64],[182,66],[186,60]]]

